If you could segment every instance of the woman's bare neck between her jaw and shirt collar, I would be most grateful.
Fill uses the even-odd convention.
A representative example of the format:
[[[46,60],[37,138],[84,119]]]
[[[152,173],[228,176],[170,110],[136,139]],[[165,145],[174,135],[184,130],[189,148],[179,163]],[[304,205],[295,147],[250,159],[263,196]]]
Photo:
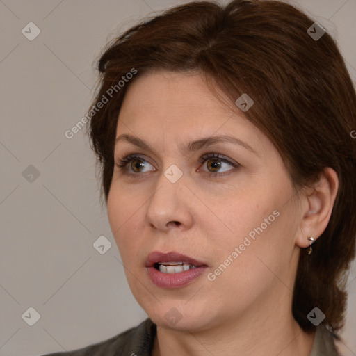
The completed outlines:
[[[152,356],[309,356],[315,332],[304,332],[290,311],[276,303],[268,313],[256,310],[254,316],[241,316],[236,323],[229,318],[210,329],[187,327],[182,331],[158,326]],[[264,318],[258,317],[262,315]]]

